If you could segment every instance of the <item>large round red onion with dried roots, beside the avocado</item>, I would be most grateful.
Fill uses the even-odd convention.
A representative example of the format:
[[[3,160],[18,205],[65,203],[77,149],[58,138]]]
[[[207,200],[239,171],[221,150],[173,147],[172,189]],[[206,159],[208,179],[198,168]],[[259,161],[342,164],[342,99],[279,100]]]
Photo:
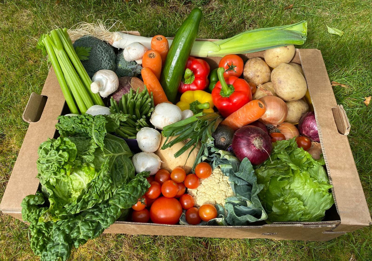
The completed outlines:
[[[235,131],[231,145],[240,161],[247,157],[254,165],[264,162],[272,150],[270,136],[256,126],[244,126]]]

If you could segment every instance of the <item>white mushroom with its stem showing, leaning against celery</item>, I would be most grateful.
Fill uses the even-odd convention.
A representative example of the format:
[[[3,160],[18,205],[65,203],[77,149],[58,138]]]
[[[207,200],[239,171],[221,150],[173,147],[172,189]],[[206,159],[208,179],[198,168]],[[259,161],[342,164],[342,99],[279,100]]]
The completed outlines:
[[[109,96],[115,92],[119,87],[119,78],[111,70],[99,70],[94,73],[90,84],[90,90],[93,93],[99,92],[99,95],[103,98]]]

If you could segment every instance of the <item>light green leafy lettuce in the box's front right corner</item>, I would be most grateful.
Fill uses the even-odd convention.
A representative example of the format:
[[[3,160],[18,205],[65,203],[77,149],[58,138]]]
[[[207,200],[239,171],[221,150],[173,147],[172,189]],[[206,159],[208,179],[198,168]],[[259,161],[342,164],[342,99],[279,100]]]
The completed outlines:
[[[323,157],[297,147],[295,139],[273,143],[270,158],[255,170],[259,198],[272,222],[317,222],[334,204]]]

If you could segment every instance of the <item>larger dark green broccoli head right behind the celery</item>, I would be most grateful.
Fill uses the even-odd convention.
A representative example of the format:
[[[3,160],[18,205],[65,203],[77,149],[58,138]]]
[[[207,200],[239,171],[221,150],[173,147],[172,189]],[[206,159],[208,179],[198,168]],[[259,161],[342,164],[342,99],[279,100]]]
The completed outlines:
[[[73,45],[74,48],[77,46],[92,47],[88,60],[81,61],[90,78],[99,70],[115,71],[115,52],[111,45],[92,36],[83,36],[77,39]]]

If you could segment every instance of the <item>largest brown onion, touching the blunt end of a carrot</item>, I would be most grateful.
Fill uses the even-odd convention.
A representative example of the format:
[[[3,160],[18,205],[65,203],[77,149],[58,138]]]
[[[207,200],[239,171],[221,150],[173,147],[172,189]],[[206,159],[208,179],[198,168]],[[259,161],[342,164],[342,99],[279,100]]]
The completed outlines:
[[[266,112],[260,118],[264,124],[278,125],[287,117],[288,108],[285,102],[279,97],[267,95],[259,99],[263,102]]]

